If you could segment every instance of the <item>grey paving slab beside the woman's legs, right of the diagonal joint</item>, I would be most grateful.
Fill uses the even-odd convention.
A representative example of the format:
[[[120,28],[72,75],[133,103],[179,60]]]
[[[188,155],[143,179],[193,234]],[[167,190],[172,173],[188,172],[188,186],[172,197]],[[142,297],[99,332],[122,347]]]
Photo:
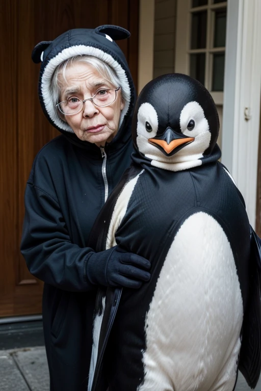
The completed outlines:
[[[49,371],[44,347],[17,350],[12,353],[12,357],[30,391],[49,391]]]

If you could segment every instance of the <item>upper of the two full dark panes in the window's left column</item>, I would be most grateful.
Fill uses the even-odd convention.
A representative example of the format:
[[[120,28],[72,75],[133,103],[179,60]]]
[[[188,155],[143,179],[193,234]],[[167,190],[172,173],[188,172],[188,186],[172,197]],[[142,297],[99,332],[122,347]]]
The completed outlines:
[[[206,47],[206,11],[192,14],[191,49]]]

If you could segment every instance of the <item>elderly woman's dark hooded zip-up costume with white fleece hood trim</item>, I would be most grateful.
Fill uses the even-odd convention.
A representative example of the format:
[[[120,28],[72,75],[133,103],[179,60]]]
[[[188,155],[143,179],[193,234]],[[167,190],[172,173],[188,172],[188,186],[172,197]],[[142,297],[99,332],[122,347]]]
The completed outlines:
[[[35,63],[42,61],[42,109],[62,135],[45,145],[33,163],[25,190],[21,253],[31,273],[45,282],[43,328],[50,389],[55,391],[80,391],[88,384],[97,287],[86,269],[93,254],[88,239],[97,214],[129,166],[133,151],[135,90],[125,57],[114,42],[128,36],[118,26],[75,29],[54,41],[40,42],[32,53]],[[127,97],[118,133],[104,151],[73,133],[59,117],[50,95],[56,67],[79,54],[109,64]],[[110,255],[101,254],[100,264],[106,264]]]

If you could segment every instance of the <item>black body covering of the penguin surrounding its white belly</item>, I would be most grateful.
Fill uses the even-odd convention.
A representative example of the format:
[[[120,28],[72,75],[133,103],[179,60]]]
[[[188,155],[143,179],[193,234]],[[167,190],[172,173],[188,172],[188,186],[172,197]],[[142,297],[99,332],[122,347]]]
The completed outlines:
[[[238,269],[244,310],[248,303],[249,221],[242,195],[222,164],[214,162],[176,173],[146,163],[143,169],[115,238],[126,251],[151,262],[151,279],[137,291],[123,289],[103,365],[113,391],[136,390],[144,377],[146,311],[170,244],[192,214],[210,214],[223,228]],[[116,191],[111,198],[118,197]],[[101,212],[93,229],[99,226],[100,230],[103,220]]]

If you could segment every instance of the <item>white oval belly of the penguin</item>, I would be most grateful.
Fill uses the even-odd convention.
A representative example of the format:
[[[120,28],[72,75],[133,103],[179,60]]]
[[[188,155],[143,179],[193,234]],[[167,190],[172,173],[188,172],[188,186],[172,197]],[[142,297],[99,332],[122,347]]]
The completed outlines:
[[[199,212],[177,232],[146,316],[139,391],[232,391],[243,302],[227,237]]]

